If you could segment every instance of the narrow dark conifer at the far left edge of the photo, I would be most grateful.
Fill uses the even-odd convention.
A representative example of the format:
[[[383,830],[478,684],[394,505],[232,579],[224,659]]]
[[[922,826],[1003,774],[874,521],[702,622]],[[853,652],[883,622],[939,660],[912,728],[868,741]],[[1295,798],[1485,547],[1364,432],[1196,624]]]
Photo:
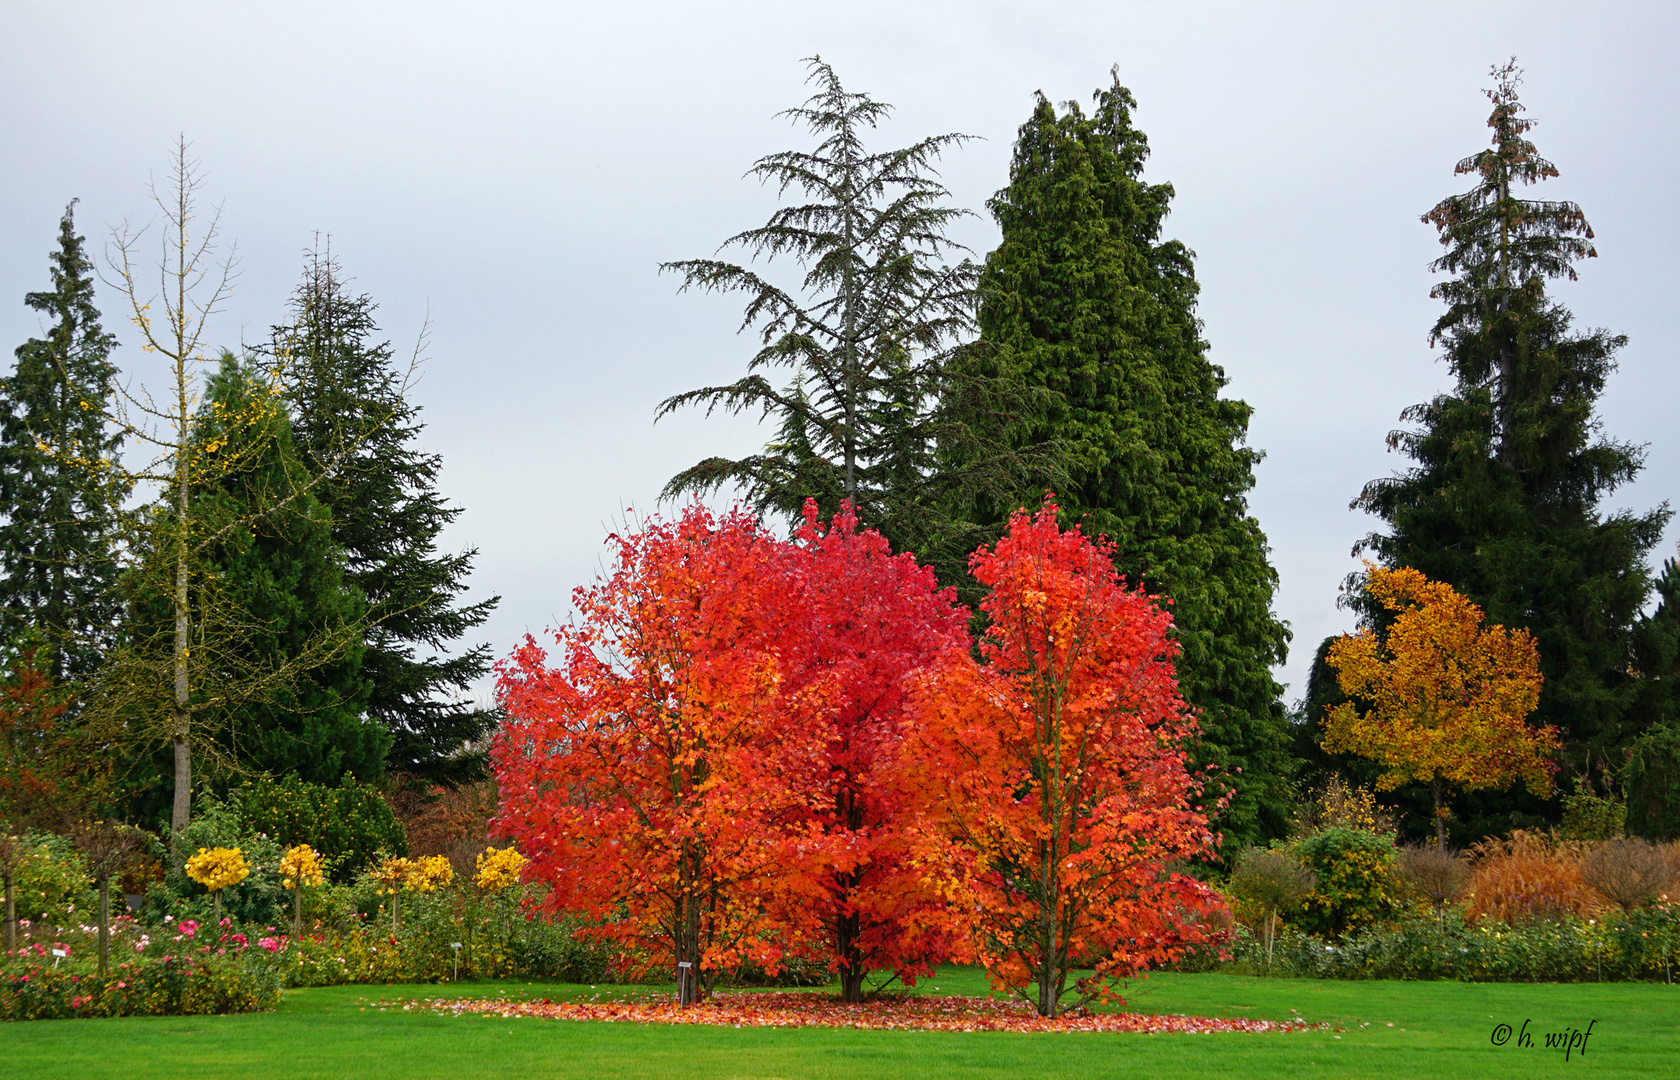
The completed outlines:
[[[106,423],[116,338],[99,326],[74,213],[71,202],[59,220],[52,291],[24,297],[52,326],[0,380],[0,633],[39,632],[55,679],[91,672],[118,623],[114,546],[131,487],[113,467],[123,437]]]

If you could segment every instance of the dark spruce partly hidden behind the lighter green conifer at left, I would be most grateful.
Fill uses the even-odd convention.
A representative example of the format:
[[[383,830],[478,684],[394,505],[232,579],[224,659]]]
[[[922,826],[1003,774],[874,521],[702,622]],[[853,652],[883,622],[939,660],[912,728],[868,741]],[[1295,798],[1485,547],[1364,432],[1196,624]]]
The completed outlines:
[[[311,254],[292,319],[274,329],[274,359],[297,455],[307,472],[329,470],[316,495],[344,551],[344,579],[366,601],[361,675],[371,684],[368,716],[393,737],[386,764],[422,783],[459,784],[484,774],[479,742],[496,714],[467,692],[489,670],[491,647],[445,653],[501,598],[457,603],[477,549],[438,551],[460,507],[437,492],[442,459],[415,445],[420,408],[373,312],[371,297],[346,289],[331,252]]]

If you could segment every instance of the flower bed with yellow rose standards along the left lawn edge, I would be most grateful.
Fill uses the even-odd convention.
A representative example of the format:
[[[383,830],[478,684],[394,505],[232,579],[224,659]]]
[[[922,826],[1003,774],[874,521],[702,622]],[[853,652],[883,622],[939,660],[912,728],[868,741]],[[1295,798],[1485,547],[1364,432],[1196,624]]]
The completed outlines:
[[[272,1008],[289,986],[606,976],[612,957],[575,936],[576,920],[528,917],[544,890],[521,880],[512,847],[480,847],[460,867],[370,850],[370,835],[402,840],[390,808],[309,788],[207,794],[175,872],[166,838],[139,830],[106,826],[123,838],[106,863],[89,830],[3,836],[0,1020],[242,1013]],[[318,831],[339,850],[264,831],[286,813],[319,825],[311,801],[336,806]],[[116,914],[101,904],[113,890]]]

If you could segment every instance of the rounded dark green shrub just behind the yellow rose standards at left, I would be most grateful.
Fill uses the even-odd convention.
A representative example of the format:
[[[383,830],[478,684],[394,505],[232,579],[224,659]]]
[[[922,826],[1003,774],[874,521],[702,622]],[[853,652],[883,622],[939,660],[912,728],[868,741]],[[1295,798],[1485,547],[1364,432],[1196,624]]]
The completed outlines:
[[[390,803],[370,784],[344,776],[336,788],[296,774],[257,778],[234,788],[245,830],[281,847],[307,843],[329,858],[331,875],[348,882],[380,855],[407,855],[408,840]]]

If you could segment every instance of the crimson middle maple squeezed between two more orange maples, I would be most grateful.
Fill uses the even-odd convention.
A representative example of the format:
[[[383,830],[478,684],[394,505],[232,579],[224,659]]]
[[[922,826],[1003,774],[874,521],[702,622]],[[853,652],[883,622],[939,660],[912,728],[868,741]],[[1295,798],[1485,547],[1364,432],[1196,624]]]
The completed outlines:
[[[968,610],[931,568],[894,556],[879,532],[858,532],[850,506],[823,527],[816,502],[806,502],[793,541],[796,621],[781,635],[788,685],[818,689],[830,707],[816,821],[832,863],[810,914],[830,942],[842,1001],[862,1001],[870,971],[914,986],[953,949],[944,899],[912,860],[906,823],[916,803],[895,764],[906,677],[968,648]]]

